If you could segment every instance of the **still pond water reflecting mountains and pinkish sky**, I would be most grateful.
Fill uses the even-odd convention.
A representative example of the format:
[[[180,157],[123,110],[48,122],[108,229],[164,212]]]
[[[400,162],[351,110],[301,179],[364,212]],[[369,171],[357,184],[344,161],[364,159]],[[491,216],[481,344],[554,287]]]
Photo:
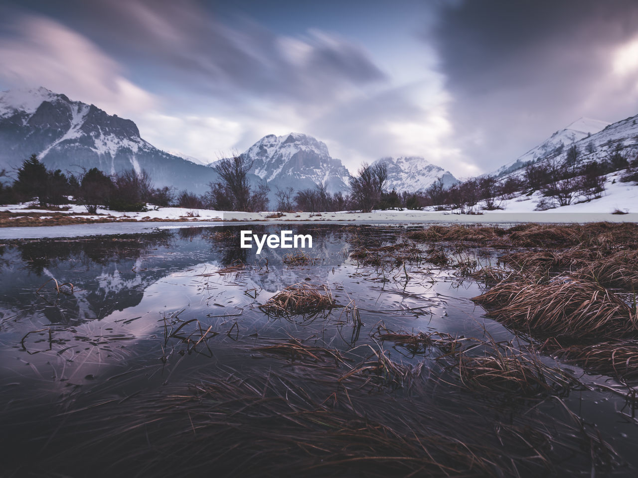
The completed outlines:
[[[405,229],[383,226],[291,226],[313,235],[314,264],[288,266],[288,250],[239,249],[241,226],[184,228],[137,235],[22,240],[0,247],[0,421],[4,450],[19,460],[47,454],[61,426],[56,416],[110,401],[125,402],[211,370],[267,374],[285,366],[255,347],[295,338],[366,358],[370,345],[405,365],[423,356],[375,340],[375,331],[441,332],[515,340],[470,298],[484,286],[452,268],[361,266],[360,245],[395,243]],[[278,234],[281,226],[252,226]],[[480,264],[500,252],[466,250]],[[340,305],[314,317],[269,317],[259,305],[283,287],[327,285]],[[57,284],[57,286],[56,286]],[[72,286],[71,286],[72,284]],[[522,341],[522,342],[521,342]],[[367,350],[367,351],[366,351]],[[551,365],[551,358],[544,358]],[[608,377],[561,365],[583,389],[564,398],[631,467],[638,425]],[[426,360],[426,367],[434,366]],[[248,373],[248,372],[247,372]],[[551,411],[549,419],[551,419]],[[64,418],[64,421],[68,418]],[[27,453],[28,451],[28,453]],[[633,468],[621,468],[632,475]]]

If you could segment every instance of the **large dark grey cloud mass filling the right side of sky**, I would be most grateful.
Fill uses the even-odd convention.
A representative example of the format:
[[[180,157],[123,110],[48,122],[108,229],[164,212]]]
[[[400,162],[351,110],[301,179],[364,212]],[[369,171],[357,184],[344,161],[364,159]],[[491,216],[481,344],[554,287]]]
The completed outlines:
[[[445,6],[425,40],[458,144],[489,171],[578,117],[634,115],[637,35],[632,0],[484,0]]]

